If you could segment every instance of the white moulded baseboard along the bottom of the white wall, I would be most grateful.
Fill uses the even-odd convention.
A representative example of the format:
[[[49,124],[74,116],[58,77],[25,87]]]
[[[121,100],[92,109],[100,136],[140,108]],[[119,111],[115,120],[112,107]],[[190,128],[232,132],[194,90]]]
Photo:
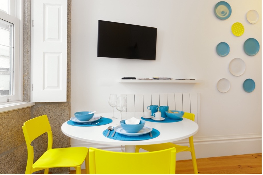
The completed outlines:
[[[174,142],[179,145],[188,145],[188,139]],[[209,137],[194,137],[196,158],[220,157],[242,154],[253,154],[262,152],[262,134],[242,134],[242,135],[220,135]],[[95,147],[103,150],[121,152],[121,146],[118,145],[102,145],[88,143],[71,139],[71,147]],[[145,150],[140,150],[145,152]],[[191,159],[190,152],[179,152],[176,160]],[[85,169],[85,164],[82,164]],[[74,168],[73,168],[74,169]],[[73,170],[72,169],[72,170]]]

